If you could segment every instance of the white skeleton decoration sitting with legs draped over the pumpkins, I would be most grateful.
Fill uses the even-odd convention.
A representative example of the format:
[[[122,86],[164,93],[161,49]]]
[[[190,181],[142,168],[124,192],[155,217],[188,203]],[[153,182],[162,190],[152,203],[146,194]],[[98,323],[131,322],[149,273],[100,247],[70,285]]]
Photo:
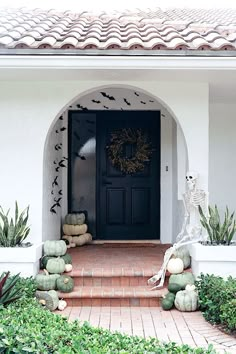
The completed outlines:
[[[167,264],[175,250],[204,239],[198,207],[200,206],[205,215],[207,215],[208,193],[202,189],[198,189],[197,182],[198,174],[194,171],[187,172],[187,190],[183,194],[185,209],[183,225],[180,233],[176,237],[176,243],[166,250],[161,269],[156,275],[148,280],[148,284],[155,284],[158,280],[160,280],[159,284],[152,289],[156,289],[164,285]]]

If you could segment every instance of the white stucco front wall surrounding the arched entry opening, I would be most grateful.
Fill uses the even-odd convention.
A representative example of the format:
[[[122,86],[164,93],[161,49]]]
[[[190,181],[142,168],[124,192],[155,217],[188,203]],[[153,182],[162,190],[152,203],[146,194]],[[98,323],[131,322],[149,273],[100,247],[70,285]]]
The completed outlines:
[[[189,167],[208,185],[208,85],[148,81],[1,82],[1,205],[30,204],[31,237],[42,240],[43,154],[47,133],[65,108],[98,87],[135,88],[160,99],[183,129]],[[56,118],[55,118],[56,117]],[[204,158],[203,158],[204,156]]]

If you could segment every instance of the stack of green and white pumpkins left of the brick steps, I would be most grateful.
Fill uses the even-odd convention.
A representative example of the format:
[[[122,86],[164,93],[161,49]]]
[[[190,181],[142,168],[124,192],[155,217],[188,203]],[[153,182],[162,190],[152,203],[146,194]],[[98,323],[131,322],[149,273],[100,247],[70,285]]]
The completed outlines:
[[[66,253],[65,241],[46,241],[43,246],[44,256],[41,259],[42,273],[35,277],[37,291],[35,293],[39,303],[50,311],[55,309],[64,310],[66,301],[59,300],[58,293],[69,293],[74,289],[74,280],[64,272],[72,270],[71,256]]]

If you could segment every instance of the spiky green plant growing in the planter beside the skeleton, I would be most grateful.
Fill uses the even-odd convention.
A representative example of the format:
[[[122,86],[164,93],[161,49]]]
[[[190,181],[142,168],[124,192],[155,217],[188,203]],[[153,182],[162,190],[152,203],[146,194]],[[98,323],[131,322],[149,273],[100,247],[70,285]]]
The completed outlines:
[[[229,245],[232,242],[236,232],[234,212],[230,214],[228,207],[226,207],[224,221],[222,224],[216,205],[214,208],[209,206],[208,211],[209,217],[206,217],[201,207],[199,206],[199,213],[201,216],[200,222],[202,226],[207,230],[210,243],[217,245]]]

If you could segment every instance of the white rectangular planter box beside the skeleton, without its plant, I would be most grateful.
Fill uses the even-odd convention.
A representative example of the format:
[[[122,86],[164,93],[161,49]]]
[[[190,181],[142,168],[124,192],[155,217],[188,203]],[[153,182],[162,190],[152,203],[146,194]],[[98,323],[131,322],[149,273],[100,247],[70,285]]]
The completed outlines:
[[[195,243],[189,246],[191,268],[195,277],[200,273],[236,278],[236,245],[204,246]]]

